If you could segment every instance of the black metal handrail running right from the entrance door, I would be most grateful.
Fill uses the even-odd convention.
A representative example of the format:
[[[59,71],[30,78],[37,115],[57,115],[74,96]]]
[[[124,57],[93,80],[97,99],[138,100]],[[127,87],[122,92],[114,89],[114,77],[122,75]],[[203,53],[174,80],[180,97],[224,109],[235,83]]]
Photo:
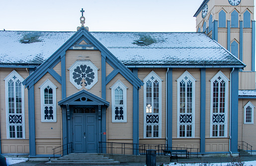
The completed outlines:
[[[132,150],[134,155],[146,155],[147,149],[154,149],[158,156],[164,155],[163,150],[186,150],[190,154],[196,154],[198,158],[198,148],[178,148],[178,147],[168,147],[168,144],[133,144],[133,143],[117,143],[117,142],[99,142],[98,145],[99,153],[103,152],[103,149],[106,150],[107,153],[113,154],[113,150],[120,150],[122,155],[127,154],[127,151]],[[192,152],[194,151],[194,152]],[[196,152],[195,152],[196,151]],[[183,155],[184,153],[180,152],[179,155]],[[189,157],[189,156],[188,156]]]

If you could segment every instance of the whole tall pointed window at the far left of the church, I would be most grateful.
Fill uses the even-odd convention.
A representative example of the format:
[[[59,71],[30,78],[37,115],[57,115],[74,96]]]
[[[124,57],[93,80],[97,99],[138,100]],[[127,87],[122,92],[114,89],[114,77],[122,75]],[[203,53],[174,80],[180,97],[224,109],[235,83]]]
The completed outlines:
[[[24,79],[12,71],[4,81],[7,139],[25,138]]]

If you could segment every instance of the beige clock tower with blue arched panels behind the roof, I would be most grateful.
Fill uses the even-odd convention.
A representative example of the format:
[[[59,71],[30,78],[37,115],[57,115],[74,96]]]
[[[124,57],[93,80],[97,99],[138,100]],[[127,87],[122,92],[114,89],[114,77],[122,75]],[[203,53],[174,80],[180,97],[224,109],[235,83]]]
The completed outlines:
[[[239,89],[255,89],[254,0],[204,0],[194,14],[197,32],[204,32],[246,64]]]

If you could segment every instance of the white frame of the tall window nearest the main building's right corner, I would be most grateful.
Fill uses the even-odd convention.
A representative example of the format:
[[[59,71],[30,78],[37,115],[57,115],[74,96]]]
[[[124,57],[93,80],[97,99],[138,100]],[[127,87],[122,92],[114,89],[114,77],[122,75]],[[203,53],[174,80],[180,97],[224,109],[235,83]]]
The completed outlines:
[[[224,109],[225,109],[225,113],[223,113],[224,114],[224,116],[225,116],[225,118],[224,118],[224,120],[225,120],[225,122],[224,123],[213,123],[213,118],[212,118],[212,116],[213,116],[213,83],[214,83],[214,81],[215,80],[217,80],[219,77],[221,77],[221,80],[223,80],[223,81],[225,81],[225,107],[224,107]],[[211,113],[210,113],[210,119],[211,119],[211,122],[210,122],[210,137],[211,138],[224,138],[224,137],[227,137],[227,134],[228,134],[228,96],[229,96],[229,79],[221,72],[221,71],[219,71],[211,80],[210,80],[210,82],[211,82]],[[220,80],[218,81],[219,83],[220,83]],[[220,89],[220,88],[218,88],[218,89]],[[220,90],[219,90],[219,92],[220,92]],[[220,98],[220,97],[219,97]],[[220,106],[220,99],[218,98],[218,105]],[[219,107],[218,106],[218,113],[216,113],[216,114],[220,114],[220,112],[219,112]],[[213,125],[218,125],[218,136],[212,136],[212,126]],[[224,133],[224,136],[219,136],[219,126],[220,125],[222,125],[222,124],[224,124],[225,125],[225,133]]]

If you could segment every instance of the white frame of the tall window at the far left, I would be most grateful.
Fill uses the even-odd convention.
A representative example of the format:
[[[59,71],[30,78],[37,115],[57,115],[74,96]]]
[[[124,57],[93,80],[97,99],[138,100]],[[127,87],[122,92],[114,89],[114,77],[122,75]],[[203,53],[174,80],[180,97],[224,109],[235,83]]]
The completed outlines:
[[[14,76],[16,77],[14,79]],[[21,110],[22,113],[19,115],[22,115],[22,124],[10,124],[9,123],[9,102],[8,102],[8,81],[9,80],[19,80],[21,83],[24,81],[24,79],[15,71],[13,70],[5,79],[5,112],[6,112],[6,138],[7,139],[25,139],[25,97],[24,97],[24,85],[21,85]],[[15,101],[15,93],[16,93],[16,88],[15,88],[15,83],[14,83],[14,112],[16,111],[16,101]],[[16,113],[14,113],[16,114]],[[9,125],[15,126],[15,138],[10,138],[10,132],[9,132]],[[16,138],[17,137],[17,128],[16,126],[22,125],[22,138]]]

